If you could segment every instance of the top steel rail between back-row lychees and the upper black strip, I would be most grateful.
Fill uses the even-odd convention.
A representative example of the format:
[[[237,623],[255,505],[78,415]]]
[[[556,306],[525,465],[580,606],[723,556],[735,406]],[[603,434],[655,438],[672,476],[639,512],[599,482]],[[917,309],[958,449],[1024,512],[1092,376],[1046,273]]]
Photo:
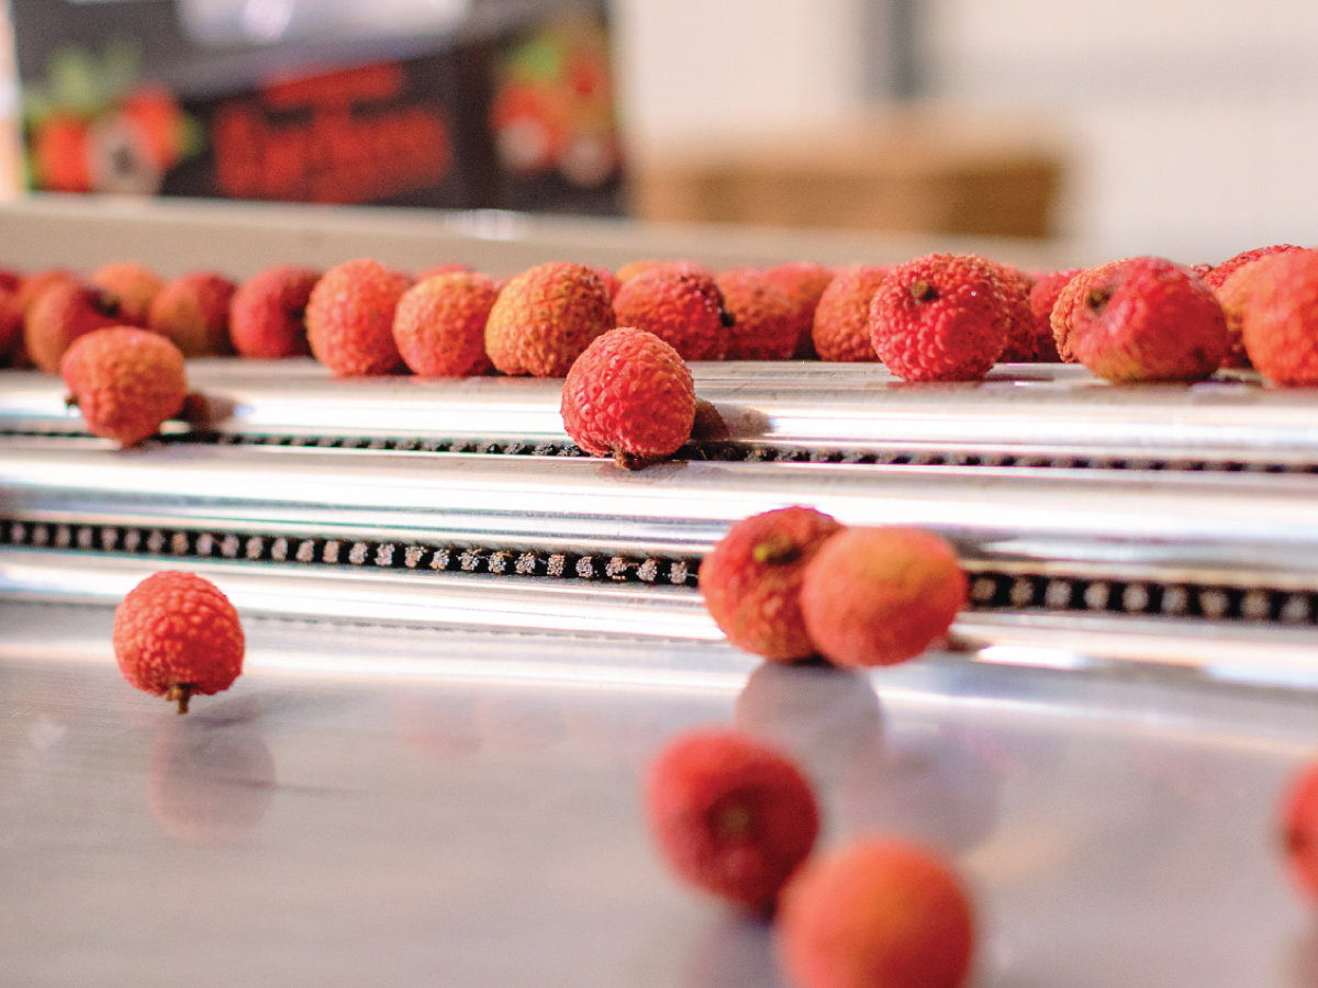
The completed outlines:
[[[908,386],[882,366],[697,364],[738,444],[1318,468],[1318,394],[1244,379],[1114,387],[1082,368],[1000,365],[982,385]],[[311,361],[188,364],[221,436],[567,443],[560,381],[335,379]],[[51,375],[0,371],[0,431],[80,431]],[[183,432],[170,423],[170,432]]]

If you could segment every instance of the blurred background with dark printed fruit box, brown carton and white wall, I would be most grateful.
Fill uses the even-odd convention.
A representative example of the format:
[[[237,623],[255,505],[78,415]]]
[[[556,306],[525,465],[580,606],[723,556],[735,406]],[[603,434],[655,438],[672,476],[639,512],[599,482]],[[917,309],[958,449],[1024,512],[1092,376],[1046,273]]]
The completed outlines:
[[[1318,241],[1300,0],[9,0],[24,188]],[[9,54],[13,58],[9,59]]]

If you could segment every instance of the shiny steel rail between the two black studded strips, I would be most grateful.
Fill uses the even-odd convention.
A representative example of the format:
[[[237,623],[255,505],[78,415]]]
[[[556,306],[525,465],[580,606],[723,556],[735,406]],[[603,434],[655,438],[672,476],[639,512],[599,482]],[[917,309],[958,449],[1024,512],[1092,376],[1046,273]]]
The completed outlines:
[[[1040,574],[1314,588],[1318,477],[672,462],[0,441],[0,516],[546,551],[702,555],[731,522],[815,505],[917,524]]]

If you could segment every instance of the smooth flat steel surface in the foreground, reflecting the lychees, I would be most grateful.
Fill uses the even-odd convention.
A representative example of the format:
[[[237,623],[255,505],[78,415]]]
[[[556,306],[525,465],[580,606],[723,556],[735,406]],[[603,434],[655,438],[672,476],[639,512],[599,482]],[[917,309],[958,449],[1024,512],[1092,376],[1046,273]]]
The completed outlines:
[[[0,624],[5,984],[778,988],[772,927],[679,887],[643,826],[646,765],[696,725],[796,756],[822,847],[944,854],[977,988],[1311,984],[1275,834],[1311,694],[250,619],[244,676],[181,718],[120,678],[108,609]]]

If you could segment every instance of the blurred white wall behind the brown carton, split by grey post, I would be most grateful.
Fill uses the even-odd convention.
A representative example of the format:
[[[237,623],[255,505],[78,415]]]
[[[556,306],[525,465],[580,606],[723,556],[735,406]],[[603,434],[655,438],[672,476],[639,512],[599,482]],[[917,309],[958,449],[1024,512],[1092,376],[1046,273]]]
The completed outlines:
[[[634,137],[855,107],[865,1],[616,0]],[[933,95],[1069,137],[1064,224],[1093,253],[1318,244],[1318,3],[928,0],[924,16]]]

